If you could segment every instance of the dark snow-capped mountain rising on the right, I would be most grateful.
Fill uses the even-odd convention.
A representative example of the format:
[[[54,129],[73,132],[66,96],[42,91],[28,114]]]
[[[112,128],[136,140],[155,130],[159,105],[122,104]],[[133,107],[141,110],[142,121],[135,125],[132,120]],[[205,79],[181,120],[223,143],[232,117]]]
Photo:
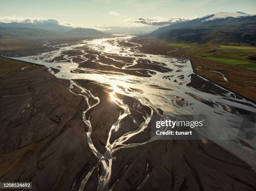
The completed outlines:
[[[177,43],[256,44],[256,15],[216,13],[161,27],[147,36]]]

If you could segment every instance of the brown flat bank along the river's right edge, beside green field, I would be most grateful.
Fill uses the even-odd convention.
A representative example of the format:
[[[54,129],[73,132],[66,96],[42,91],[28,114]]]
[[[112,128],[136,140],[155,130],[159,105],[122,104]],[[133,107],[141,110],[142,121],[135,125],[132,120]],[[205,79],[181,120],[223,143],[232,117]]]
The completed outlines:
[[[193,50],[192,45],[185,46],[178,43],[166,43],[155,38],[133,38],[132,41],[141,43],[143,46],[139,50],[145,53],[188,59],[191,61],[196,74],[256,102],[256,70],[247,70],[236,67],[236,65],[207,60],[205,57],[192,56],[197,50]],[[187,47],[190,51],[187,50]]]

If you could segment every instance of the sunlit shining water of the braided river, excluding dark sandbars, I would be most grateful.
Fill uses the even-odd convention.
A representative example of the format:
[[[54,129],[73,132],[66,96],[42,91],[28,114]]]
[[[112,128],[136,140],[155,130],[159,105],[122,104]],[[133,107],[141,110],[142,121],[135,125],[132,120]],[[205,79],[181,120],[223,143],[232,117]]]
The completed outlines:
[[[226,121],[226,126],[236,126],[236,122],[237,120],[239,120],[240,117],[230,113],[228,109],[223,109],[223,104],[226,107],[231,106],[254,113],[256,112],[254,103],[247,101],[246,99],[240,98],[230,91],[227,91],[228,93],[226,93],[225,95],[216,95],[214,92],[204,93],[200,90],[196,90],[192,87],[187,86],[187,84],[191,82],[191,77],[189,75],[193,73],[192,66],[189,60],[172,58],[164,55],[140,53],[138,51],[138,47],[141,45],[137,43],[130,43],[129,47],[120,46],[119,43],[127,43],[131,38],[132,36],[128,35],[115,38],[83,40],[77,43],[70,44],[66,43],[54,45],[51,43],[46,43],[45,46],[55,47],[57,49],[51,52],[40,53],[38,55],[15,58],[18,60],[24,60],[32,63],[45,65],[53,74],[54,71],[52,68],[60,70],[59,73],[56,73],[54,75],[57,78],[64,78],[70,80],[71,85],[69,87],[69,90],[71,92],[72,88],[74,86],[77,86],[89,93],[93,98],[97,100],[97,103],[91,106],[88,102],[88,98],[82,95],[84,96],[89,106],[89,108],[83,113],[84,122],[89,127],[89,131],[87,132],[88,143],[92,151],[99,158],[100,163],[97,163],[87,174],[87,176],[84,177],[84,180],[80,185],[81,190],[86,185],[86,182],[90,178],[92,171],[95,168],[98,168],[99,164],[102,166],[103,170],[99,178],[98,187],[108,190],[108,181],[111,176],[112,164],[112,158],[110,153],[117,149],[117,146],[118,149],[121,149],[124,147],[146,144],[149,141],[154,141],[155,139],[159,138],[153,137],[150,140],[142,143],[138,142],[124,144],[124,142],[128,140],[131,136],[141,133],[147,127],[149,121],[152,118],[154,108],[161,108],[161,110],[164,111],[164,116],[166,118],[168,118],[168,116],[175,116],[176,114],[204,114],[205,116],[207,116],[209,121]],[[72,53],[79,54],[70,54],[70,51]],[[131,65],[136,65],[139,59],[144,59],[148,60],[148,64],[164,63],[166,64],[166,67],[171,68],[173,71],[161,73],[155,70],[147,70],[148,75],[151,75],[151,77],[138,77],[135,75],[128,75],[122,72],[113,72],[111,74],[107,74],[106,72],[100,71],[98,69],[79,68],[79,63],[90,59],[88,57],[88,55],[90,54],[95,56],[93,57],[92,61],[94,61],[97,65],[106,65],[105,63],[100,63],[99,61],[97,61],[99,55],[105,56],[106,58],[111,58],[113,60],[115,60],[116,58],[110,57],[110,55],[118,55],[122,57],[134,58],[133,63],[126,63],[125,61],[119,60],[121,63],[123,63],[123,66],[119,68],[125,70],[130,70],[129,67],[131,67]],[[61,61],[57,61],[56,58],[60,55],[64,56]],[[80,58],[81,61],[76,63],[74,61],[75,58]],[[113,65],[113,67],[117,66]],[[76,69],[79,69],[79,71],[83,73],[71,72]],[[138,73],[140,73],[140,68],[138,68],[137,71]],[[109,133],[109,138],[112,131],[118,129],[118,123],[120,119],[124,118],[130,113],[128,106],[123,104],[122,100],[118,99],[117,96],[115,96],[115,93],[132,96],[141,101],[141,103],[143,103],[144,105],[150,106],[152,108],[151,115],[147,116],[143,124],[141,124],[140,128],[138,128],[136,131],[126,133],[122,137],[115,140],[113,143],[110,143],[108,138],[106,153],[100,153],[99,151],[97,151],[90,138],[93,127],[90,123],[90,118],[86,118],[85,115],[85,113],[90,108],[95,107],[97,106],[97,104],[100,103],[100,99],[90,93],[90,91],[87,90],[86,87],[81,87],[77,85],[73,81],[75,79],[87,79],[97,81],[97,83],[106,83],[110,85],[110,89],[113,90],[113,92],[110,93],[110,98],[115,101],[115,103],[117,103],[121,108],[123,108],[125,112],[123,114],[120,114],[118,121],[113,124]],[[207,81],[206,79],[204,80]],[[196,96],[197,98],[200,98],[204,101],[214,103],[214,106],[208,106],[207,104],[202,103],[202,101],[199,101],[200,99],[195,99],[191,95],[194,95],[194,97]],[[225,98],[228,98],[228,100]],[[198,131],[198,133],[200,133],[200,130]],[[231,137],[236,137],[236,134],[238,133],[237,129],[225,128],[225,131],[223,131],[223,129],[210,129],[208,133],[210,134],[212,133],[212,131],[218,131],[218,133],[221,132],[223,134],[223,140],[221,140],[221,138],[217,140],[212,138],[215,143],[234,153],[236,156],[246,161],[255,168],[256,153],[254,149],[244,147],[240,143],[226,140],[227,138],[224,138],[227,135]],[[211,135],[208,135],[208,138],[211,138]],[[256,147],[255,141],[253,142],[248,140],[246,142],[253,148]]]

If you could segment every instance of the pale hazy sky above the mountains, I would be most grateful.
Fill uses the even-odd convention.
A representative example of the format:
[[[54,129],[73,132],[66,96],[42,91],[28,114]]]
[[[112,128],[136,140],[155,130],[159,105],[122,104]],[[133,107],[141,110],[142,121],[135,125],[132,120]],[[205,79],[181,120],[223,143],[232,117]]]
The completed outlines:
[[[0,18],[51,18],[75,25],[159,27],[236,11],[256,14],[256,0],[0,0]],[[156,22],[140,22],[148,19]]]

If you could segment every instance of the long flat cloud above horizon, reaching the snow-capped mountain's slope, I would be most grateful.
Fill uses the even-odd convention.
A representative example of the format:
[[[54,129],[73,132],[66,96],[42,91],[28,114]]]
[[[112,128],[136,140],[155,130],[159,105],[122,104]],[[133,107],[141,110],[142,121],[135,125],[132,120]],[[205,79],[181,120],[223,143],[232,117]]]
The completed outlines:
[[[196,18],[196,17],[195,17]],[[151,26],[166,26],[174,23],[180,23],[188,20],[193,20],[195,18],[184,18],[184,17],[170,17],[170,18],[162,18],[162,17],[153,17],[153,18],[129,18],[126,19],[127,23],[138,23],[143,25],[151,25]]]

